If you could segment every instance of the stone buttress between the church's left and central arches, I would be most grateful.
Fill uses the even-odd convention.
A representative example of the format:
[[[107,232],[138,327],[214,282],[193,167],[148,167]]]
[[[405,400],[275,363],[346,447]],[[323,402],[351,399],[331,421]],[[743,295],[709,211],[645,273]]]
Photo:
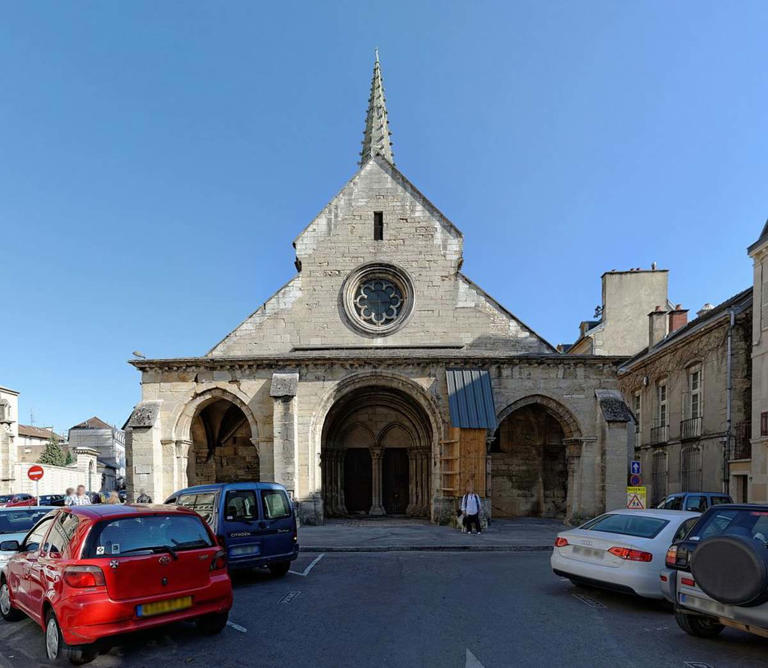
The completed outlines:
[[[283,485],[298,503],[301,498],[298,476],[298,410],[296,390],[299,374],[273,373],[269,395],[274,399],[272,418],[275,482]]]

